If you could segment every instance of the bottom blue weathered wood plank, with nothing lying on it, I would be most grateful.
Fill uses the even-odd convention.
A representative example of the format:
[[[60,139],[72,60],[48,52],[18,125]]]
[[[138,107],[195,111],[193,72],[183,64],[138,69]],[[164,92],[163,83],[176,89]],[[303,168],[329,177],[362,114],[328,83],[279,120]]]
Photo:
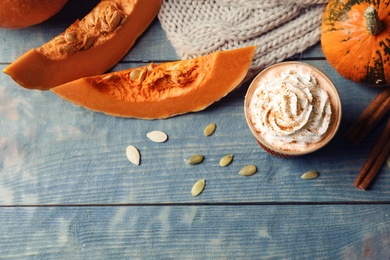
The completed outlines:
[[[4,259],[388,259],[389,205],[0,208]]]

